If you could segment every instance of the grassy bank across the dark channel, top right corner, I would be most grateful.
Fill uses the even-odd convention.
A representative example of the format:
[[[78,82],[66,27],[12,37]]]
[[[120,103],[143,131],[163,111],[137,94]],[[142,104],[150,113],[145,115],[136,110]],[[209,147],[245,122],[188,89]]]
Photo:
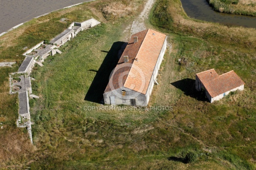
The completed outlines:
[[[256,0],[207,0],[215,11],[256,17]]]

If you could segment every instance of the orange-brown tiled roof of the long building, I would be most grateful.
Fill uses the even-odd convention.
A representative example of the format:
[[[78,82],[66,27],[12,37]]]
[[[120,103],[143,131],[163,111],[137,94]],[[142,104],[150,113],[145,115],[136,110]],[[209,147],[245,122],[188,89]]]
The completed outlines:
[[[138,37],[138,42],[134,43],[133,37]],[[125,87],[146,94],[165,39],[165,34],[151,29],[133,34],[111,75],[105,93]],[[124,56],[128,56],[128,62],[124,62]]]

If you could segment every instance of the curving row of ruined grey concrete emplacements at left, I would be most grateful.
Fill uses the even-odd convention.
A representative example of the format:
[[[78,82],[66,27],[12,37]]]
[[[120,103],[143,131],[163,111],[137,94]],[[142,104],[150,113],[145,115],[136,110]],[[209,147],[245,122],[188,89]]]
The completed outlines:
[[[29,138],[32,143],[32,122],[30,121],[29,98],[39,98],[39,96],[32,94],[31,88],[31,79],[33,78],[30,77],[30,74],[33,67],[35,66],[35,63],[37,63],[40,66],[43,66],[42,62],[44,62],[44,59],[46,59],[49,55],[53,56],[56,53],[61,54],[61,51],[58,50],[58,48],[64,45],[64,43],[76,37],[76,35],[80,31],[94,27],[98,24],[100,24],[100,22],[93,18],[91,18],[90,20],[86,20],[82,23],[71,23],[69,28],[67,28],[61,34],[50,40],[49,44],[45,44],[44,41],[42,41],[35,45],[33,48],[23,53],[23,55],[26,57],[23,60],[22,64],[20,65],[20,68],[16,73],[11,73],[9,75],[10,94],[18,93],[19,98],[19,116],[16,122],[17,127],[27,128]],[[6,62],[2,65],[8,66],[14,63],[16,62]],[[18,79],[13,79],[12,75],[15,76],[15,74],[24,75],[16,77]]]

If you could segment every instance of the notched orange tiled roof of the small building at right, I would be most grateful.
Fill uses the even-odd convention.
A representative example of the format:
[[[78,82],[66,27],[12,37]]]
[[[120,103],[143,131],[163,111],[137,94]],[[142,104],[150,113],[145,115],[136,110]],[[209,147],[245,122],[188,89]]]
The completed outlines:
[[[214,69],[210,69],[198,73],[196,76],[211,97],[218,96],[245,84],[233,70],[219,76]]]

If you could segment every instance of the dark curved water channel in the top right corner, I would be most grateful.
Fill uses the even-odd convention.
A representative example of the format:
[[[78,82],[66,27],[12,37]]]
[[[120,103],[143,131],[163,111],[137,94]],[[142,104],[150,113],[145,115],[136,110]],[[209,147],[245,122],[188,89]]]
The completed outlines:
[[[256,17],[216,12],[206,0],[181,0],[181,3],[189,17],[227,25],[256,28]]]

